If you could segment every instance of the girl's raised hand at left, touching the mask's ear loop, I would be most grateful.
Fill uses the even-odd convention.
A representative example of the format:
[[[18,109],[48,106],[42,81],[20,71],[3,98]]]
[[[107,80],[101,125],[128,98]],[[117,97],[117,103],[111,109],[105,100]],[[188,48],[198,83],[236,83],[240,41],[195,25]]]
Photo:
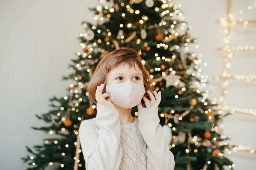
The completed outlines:
[[[102,94],[103,88],[104,88],[104,84],[101,84],[100,86],[97,86],[97,89],[96,89],[95,99],[97,100],[97,107],[100,105],[109,105],[112,103],[110,98],[108,98],[107,100],[105,99],[106,97],[109,97],[110,94],[108,93]]]

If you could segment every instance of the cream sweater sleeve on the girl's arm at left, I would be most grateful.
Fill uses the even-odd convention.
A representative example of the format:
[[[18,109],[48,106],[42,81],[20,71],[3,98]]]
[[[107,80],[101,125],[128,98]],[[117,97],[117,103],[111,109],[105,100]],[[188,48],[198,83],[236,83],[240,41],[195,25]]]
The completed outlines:
[[[113,103],[97,107],[96,125],[81,122],[79,138],[86,170],[119,170],[122,158],[119,114]]]

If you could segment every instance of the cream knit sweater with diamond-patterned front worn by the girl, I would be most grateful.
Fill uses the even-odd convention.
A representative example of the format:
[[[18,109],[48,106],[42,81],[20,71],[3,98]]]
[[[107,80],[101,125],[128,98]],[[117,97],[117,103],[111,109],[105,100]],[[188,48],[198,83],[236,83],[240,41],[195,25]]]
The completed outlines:
[[[96,118],[81,122],[86,170],[174,170],[158,108],[153,105],[138,113],[134,122],[120,125],[119,113],[111,103],[98,106]]]

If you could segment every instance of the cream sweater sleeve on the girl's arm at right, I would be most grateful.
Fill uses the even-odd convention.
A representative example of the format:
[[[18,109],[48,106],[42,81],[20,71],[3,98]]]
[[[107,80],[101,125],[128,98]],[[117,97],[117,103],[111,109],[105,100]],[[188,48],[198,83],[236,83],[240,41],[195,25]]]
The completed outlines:
[[[141,108],[138,119],[140,133],[147,144],[147,170],[174,170],[174,156],[166,143],[163,127],[159,124],[157,106]]]

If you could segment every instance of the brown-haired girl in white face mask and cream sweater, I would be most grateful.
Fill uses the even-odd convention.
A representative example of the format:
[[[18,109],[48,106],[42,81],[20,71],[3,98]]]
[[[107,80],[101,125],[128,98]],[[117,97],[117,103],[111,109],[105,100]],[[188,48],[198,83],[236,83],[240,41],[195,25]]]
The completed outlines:
[[[79,127],[86,170],[174,170],[159,124],[161,92],[151,93],[154,87],[142,60],[134,49],[121,47],[97,65],[88,87],[97,115]],[[136,106],[138,118],[131,116]]]

